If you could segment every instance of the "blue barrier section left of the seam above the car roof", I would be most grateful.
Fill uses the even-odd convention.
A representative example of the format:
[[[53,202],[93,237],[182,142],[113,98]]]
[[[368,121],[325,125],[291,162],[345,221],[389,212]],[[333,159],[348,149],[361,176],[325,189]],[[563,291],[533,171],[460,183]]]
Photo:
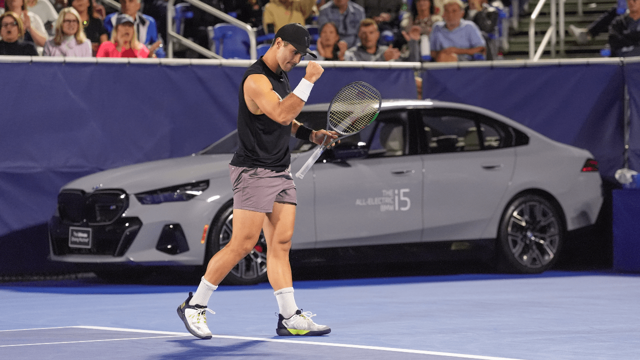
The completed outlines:
[[[236,127],[243,67],[0,63],[0,236],[46,222],[61,186],[132,163],[185,156]],[[295,86],[305,68],[289,74]],[[367,81],[415,99],[411,69],[327,69],[309,102]]]

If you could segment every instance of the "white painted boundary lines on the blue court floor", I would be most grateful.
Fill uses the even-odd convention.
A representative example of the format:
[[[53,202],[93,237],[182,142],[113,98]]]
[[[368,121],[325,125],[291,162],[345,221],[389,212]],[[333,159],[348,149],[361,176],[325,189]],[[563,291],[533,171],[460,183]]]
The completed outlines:
[[[103,327],[103,326],[65,326],[65,327],[43,327],[40,329],[19,329],[15,331],[23,330],[43,330],[43,329],[63,329],[63,328],[79,328],[79,329],[95,329],[95,330],[107,330],[107,331],[127,331],[127,332],[143,332],[147,334],[165,334],[167,336],[153,336],[149,338],[131,338],[131,339],[109,339],[109,340],[84,340],[84,341],[68,341],[62,343],[42,343],[42,344],[20,344],[20,345],[0,345],[0,347],[12,347],[12,346],[24,346],[24,345],[49,345],[49,344],[66,344],[66,343],[88,343],[92,341],[113,341],[113,340],[138,340],[138,339],[156,339],[156,338],[173,338],[179,336],[193,336],[188,332],[173,332],[173,331],[154,331],[154,330],[138,330],[138,329],[122,329],[119,327]],[[14,331],[14,330],[3,330]],[[456,354],[452,352],[438,352],[428,350],[412,350],[408,348],[391,348],[391,347],[371,347],[367,345],[350,345],[339,343],[321,343],[317,341],[302,341],[302,340],[284,340],[284,339],[269,339],[269,338],[250,338],[248,336],[228,336],[228,335],[213,335],[214,338],[221,339],[234,339],[234,340],[253,340],[253,341],[269,341],[273,343],[294,343],[294,344],[306,344],[306,345],[322,345],[327,347],[348,347],[348,348],[364,348],[367,350],[383,350],[394,352],[409,352],[412,354],[425,354],[425,355],[438,355],[449,357],[461,357],[464,359],[479,359],[479,360],[522,360],[511,359],[508,357],[494,357],[494,356],[481,356],[481,355],[468,355],[468,354]]]

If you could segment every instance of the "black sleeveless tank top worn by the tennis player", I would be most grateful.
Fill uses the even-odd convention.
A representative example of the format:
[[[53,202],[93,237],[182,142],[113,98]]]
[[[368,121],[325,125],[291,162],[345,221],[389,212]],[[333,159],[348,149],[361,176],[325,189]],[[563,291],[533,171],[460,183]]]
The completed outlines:
[[[249,111],[246,102],[244,102],[244,81],[252,74],[266,76],[280,99],[284,99],[291,92],[287,73],[283,71],[278,75],[271,71],[262,61],[262,57],[244,72],[240,84],[238,107],[240,145],[231,160],[231,165],[266,168],[277,172],[284,171],[291,163],[289,152],[291,124],[287,126],[278,124],[267,115],[255,115]]]

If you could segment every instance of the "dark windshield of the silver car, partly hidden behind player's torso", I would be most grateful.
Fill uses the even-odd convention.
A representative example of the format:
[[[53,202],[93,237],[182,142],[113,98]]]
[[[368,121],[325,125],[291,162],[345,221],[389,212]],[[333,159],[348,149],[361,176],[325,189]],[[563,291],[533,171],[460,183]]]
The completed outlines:
[[[326,127],[326,111],[303,111],[296,117],[296,120],[314,130],[324,129]],[[237,130],[234,130],[228,133],[227,136],[206,147],[203,151],[198,152],[198,154],[233,154],[236,152],[238,146],[238,133]],[[296,139],[293,136],[291,136],[291,140],[289,140],[289,149],[292,153],[309,151],[315,146],[316,144],[312,142]]]

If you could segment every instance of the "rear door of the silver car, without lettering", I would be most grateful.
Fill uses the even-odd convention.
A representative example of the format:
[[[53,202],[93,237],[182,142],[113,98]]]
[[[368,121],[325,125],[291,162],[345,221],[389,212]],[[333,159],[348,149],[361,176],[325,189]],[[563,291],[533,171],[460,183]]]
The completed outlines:
[[[481,237],[513,176],[509,128],[471,111],[423,109],[422,240]]]

